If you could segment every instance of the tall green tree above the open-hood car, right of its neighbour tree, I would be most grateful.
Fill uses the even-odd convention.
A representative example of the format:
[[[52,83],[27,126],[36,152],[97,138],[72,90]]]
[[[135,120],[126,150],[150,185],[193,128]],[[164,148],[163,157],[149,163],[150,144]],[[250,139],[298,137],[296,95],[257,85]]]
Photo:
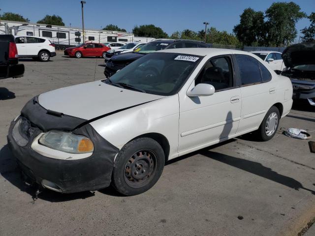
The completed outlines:
[[[295,24],[306,14],[294,2],[274,2],[266,10],[266,44],[268,46],[287,46],[297,35]]]

